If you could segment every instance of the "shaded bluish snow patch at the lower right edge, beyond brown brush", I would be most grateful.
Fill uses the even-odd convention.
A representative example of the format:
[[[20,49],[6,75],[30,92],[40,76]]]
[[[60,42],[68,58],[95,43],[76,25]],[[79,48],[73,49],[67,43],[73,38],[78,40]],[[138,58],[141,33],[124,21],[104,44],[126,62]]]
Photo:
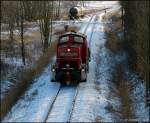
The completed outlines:
[[[146,106],[146,88],[144,81],[139,79],[139,76],[131,70],[126,71],[126,78],[128,84],[132,85],[131,99],[133,101],[133,109],[135,111],[135,117],[137,121],[147,122],[150,119],[149,110]]]

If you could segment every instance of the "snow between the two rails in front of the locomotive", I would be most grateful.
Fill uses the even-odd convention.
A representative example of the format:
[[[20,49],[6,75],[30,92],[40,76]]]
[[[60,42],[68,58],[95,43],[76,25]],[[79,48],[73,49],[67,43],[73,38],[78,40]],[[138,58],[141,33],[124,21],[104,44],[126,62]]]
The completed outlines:
[[[67,122],[70,117],[76,86],[63,87],[46,122]]]

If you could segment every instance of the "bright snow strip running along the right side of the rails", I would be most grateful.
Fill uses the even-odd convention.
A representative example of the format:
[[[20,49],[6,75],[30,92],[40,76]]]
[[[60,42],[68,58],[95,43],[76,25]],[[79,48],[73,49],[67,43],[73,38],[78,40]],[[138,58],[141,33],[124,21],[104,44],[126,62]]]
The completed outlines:
[[[96,17],[96,16],[95,16]],[[95,20],[95,17],[92,21]],[[91,38],[91,29],[94,26],[94,33]],[[101,60],[104,60],[106,63],[101,64],[98,66],[95,57],[97,57],[97,53],[99,53],[99,46],[104,45],[105,37],[104,32],[99,32],[99,29],[102,27],[102,24],[90,24],[86,34],[88,41],[91,41],[91,57],[92,60],[90,62],[90,70],[87,78],[87,83],[80,84],[79,94],[77,96],[74,113],[72,116],[73,122],[96,122],[96,121],[113,121],[113,116],[111,113],[108,112],[106,107],[109,103],[115,105],[116,107],[119,105],[119,100],[111,99],[109,97],[109,88],[108,85],[110,84],[108,79],[110,79],[109,73],[109,64],[107,64],[107,60],[105,58],[105,51],[102,54],[103,57]],[[101,67],[101,70],[106,70],[105,75],[101,76],[99,82],[97,82],[96,77],[96,67]],[[114,107],[115,107],[114,106]]]

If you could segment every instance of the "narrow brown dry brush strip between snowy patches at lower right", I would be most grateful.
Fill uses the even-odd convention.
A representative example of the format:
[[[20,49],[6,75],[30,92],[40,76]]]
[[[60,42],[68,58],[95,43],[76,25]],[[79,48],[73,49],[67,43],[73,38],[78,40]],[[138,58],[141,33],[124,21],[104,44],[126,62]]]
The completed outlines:
[[[113,74],[112,81],[118,89],[117,95],[121,101],[121,107],[118,112],[122,114],[122,119],[132,119],[134,117],[134,111],[132,110],[132,101],[129,95],[129,85],[127,85],[124,78],[124,70],[121,65],[117,66],[116,72]]]

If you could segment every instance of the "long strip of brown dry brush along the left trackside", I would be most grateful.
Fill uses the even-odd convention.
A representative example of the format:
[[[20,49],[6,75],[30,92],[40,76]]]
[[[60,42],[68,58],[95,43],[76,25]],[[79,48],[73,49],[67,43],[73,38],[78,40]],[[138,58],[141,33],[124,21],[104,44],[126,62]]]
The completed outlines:
[[[19,97],[25,92],[25,90],[32,84],[35,76],[39,75],[46,65],[50,62],[54,56],[56,50],[56,41],[52,42],[47,52],[39,58],[34,68],[23,70],[21,75],[14,82],[14,86],[6,94],[5,98],[1,100],[1,114],[0,119],[4,118],[6,113],[16,103]],[[20,74],[20,73],[18,73]]]

